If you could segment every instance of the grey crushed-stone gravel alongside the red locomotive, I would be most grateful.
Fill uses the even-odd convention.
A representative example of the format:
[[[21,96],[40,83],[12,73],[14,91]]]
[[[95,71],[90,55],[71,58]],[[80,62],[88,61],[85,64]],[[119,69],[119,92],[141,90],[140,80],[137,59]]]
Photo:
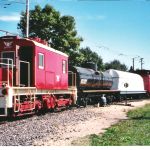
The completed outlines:
[[[60,128],[74,126],[80,121],[86,121],[96,114],[88,110],[94,107],[88,106],[86,109],[75,109],[62,111],[59,113],[47,113],[41,116],[25,117],[14,121],[0,122],[0,146],[28,146],[36,140],[46,136],[57,138],[61,135]]]

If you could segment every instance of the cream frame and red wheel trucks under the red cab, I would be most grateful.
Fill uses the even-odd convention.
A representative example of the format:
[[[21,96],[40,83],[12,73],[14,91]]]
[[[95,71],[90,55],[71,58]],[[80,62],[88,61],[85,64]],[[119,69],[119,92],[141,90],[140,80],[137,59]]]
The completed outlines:
[[[76,103],[77,90],[39,90],[35,87],[3,87],[0,95],[0,116],[16,117],[42,114],[68,108]]]

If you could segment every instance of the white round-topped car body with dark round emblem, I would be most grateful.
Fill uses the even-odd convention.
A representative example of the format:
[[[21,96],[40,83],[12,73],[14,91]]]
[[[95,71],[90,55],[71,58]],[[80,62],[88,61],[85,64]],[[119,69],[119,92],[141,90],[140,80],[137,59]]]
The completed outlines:
[[[143,78],[140,75],[114,69],[106,72],[113,78],[111,90],[119,90],[120,94],[145,93]]]

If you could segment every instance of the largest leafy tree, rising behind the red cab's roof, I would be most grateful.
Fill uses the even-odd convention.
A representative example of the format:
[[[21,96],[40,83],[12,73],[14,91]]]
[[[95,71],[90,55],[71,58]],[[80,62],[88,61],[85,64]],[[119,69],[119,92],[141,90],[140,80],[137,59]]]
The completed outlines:
[[[43,9],[37,5],[34,10],[30,10],[29,25],[29,37],[40,37],[48,41],[51,47],[72,56],[73,59],[70,59],[70,61],[73,61],[72,63],[76,62],[76,57],[79,58],[77,53],[82,38],[77,36],[75,20],[72,16],[61,16],[48,4]],[[21,13],[18,29],[25,37],[25,12]]]

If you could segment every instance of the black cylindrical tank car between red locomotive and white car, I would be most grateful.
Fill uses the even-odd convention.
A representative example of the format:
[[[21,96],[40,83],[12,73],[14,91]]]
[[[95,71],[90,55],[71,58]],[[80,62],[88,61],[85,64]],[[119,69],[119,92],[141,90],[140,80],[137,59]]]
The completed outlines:
[[[74,66],[69,68],[71,72],[76,74],[78,105],[86,106],[88,103],[98,103],[103,94],[109,96],[117,92],[110,90],[113,83],[110,74],[97,71],[97,67],[91,63],[87,63],[86,67]]]

